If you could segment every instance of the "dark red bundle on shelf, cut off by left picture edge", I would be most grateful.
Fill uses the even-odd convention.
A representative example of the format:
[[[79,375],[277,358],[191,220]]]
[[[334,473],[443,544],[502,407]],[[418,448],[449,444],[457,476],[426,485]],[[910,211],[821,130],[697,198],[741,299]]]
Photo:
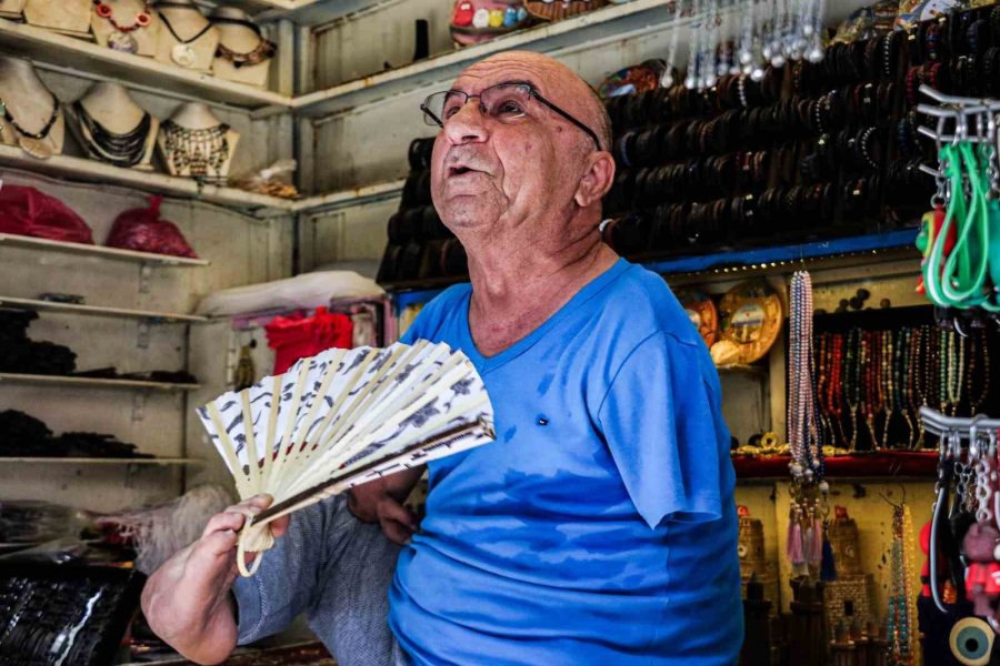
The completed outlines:
[[[54,196],[23,185],[0,188],[0,233],[93,244],[93,233],[80,215]]]

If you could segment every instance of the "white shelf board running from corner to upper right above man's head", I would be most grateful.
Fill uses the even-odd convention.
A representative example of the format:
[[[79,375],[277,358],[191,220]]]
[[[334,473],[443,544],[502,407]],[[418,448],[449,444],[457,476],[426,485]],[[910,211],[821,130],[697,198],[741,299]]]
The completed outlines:
[[[326,90],[294,98],[300,115],[318,118],[420,89],[457,75],[468,63],[511,49],[554,54],[564,49],[581,49],[594,41],[623,39],[674,21],[663,0],[632,0],[613,4],[572,19],[520,30],[492,41],[457,49],[413,64],[378,72]],[[416,112],[416,110],[414,110]]]

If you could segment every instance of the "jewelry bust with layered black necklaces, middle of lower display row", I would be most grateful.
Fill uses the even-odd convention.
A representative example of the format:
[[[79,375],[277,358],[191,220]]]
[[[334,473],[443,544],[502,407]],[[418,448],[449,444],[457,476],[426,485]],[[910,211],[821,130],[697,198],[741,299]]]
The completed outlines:
[[[73,135],[91,159],[152,170],[160,121],[139,107],[123,85],[96,83],[67,111]]]

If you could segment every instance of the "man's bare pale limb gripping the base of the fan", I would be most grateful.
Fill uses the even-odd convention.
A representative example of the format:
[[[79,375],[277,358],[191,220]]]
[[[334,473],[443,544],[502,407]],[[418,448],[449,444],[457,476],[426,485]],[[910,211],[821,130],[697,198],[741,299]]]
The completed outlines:
[[[218,664],[236,647],[229,591],[239,575],[237,539],[246,513],[256,515],[271,501],[270,495],[258,495],[216,514],[200,539],[176,553],[146,583],[142,612],[150,628],[187,658]],[[289,516],[270,523],[271,533],[281,536],[288,523]]]

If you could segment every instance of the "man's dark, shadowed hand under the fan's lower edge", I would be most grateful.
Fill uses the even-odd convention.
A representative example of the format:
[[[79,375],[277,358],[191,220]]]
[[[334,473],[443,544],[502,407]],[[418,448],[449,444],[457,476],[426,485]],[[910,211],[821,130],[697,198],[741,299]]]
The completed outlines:
[[[404,545],[418,525],[417,516],[402,503],[421,474],[423,467],[418,467],[354,486],[350,491],[348,508],[359,521],[378,523],[390,541]]]

